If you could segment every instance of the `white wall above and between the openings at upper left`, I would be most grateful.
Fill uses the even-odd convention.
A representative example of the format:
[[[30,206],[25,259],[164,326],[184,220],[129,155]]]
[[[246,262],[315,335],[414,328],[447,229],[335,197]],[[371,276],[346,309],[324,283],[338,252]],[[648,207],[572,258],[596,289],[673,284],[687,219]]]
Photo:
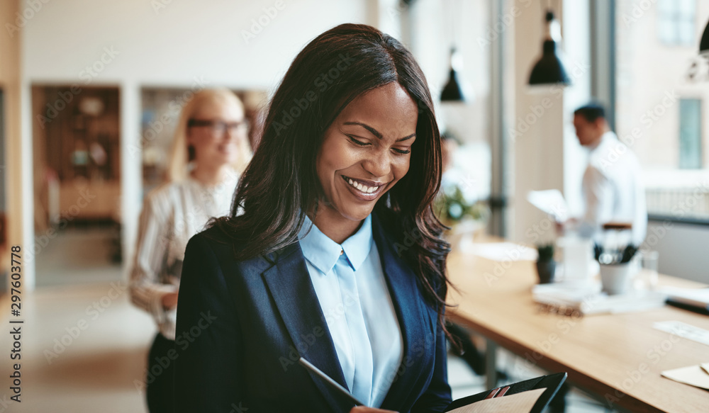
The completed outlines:
[[[34,83],[120,87],[125,262],[133,255],[141,207],[140,154],[131,149],[140,147],[142,86],[193,87],[199,79],[206,86],[273,91],[309,40],[340,23],[376,25],[391,16],[388,7],[374,0],[50,1],[21,29],[22,86],[26,94]],[[255,37],[245,38],[248,32]],[[109,59],[106,50],[115,56]],[[86,70],[94,65],[95,76]],[[23,141],[31,142],[29,103],[23,122]]]

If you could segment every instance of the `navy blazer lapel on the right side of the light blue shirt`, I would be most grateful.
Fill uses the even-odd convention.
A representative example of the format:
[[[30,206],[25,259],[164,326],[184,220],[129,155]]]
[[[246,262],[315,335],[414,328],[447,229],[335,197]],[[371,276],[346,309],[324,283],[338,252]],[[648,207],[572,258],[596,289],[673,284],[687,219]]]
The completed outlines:
[[[430,315],[427,317],[421,310],[415,273],[396,252],[396,241],[386,235],[377,216],[372,217],[374,241],[403,336],[403,366],[400,366],[381,408],[398,410],[407,407],[408,410],[415,402],[414,397],[418,397],[417,389],[420,386],[417,383],[420,372],[425,370],[420,366],[428,364],[435,334],[434,330],[426,328],[431,320]]]

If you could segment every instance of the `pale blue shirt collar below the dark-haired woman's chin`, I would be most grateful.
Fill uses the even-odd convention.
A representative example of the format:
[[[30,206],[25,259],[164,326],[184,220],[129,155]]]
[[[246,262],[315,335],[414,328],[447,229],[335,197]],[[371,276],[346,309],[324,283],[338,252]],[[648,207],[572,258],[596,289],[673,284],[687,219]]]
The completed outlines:
[[[310,229],[309,232],[308,229]],[[303,227],[298,233],[298,239],[300,240],[303,256],[323,273],[327,274],[332,271],[335,263],[340,259],[340,251],[344,251],[342,255],[350,262],[352,269],[357,271],[357,268],[367,259],[369,250],[372,249],[372,243],[374,242],[372,238],[372,214],[367,215],[359,230],[345,239],[345,242],[342,242],[341,245],[323,234],[306,215]]]

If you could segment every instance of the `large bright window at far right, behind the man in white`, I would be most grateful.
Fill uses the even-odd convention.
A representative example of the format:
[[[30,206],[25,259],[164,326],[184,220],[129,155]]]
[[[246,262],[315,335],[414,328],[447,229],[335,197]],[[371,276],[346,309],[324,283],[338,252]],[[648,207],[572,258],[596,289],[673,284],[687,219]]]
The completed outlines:
[[[615,132],[640,159],[649,213],[672,216],[709,182],[709,64],[698,56],[709,0],[658,0],[625,22],[638,1],[615,4]],[[686,213],[709,219],[702,205]]]

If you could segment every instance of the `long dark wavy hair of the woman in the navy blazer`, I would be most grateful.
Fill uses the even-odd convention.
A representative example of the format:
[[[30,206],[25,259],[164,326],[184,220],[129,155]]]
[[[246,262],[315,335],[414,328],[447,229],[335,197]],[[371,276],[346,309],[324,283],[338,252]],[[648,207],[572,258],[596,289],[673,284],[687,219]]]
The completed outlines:
[[[261,142],[241,177],[230,216],[212,220],[210,226],[233,240],[237,260],[296,242],[306,211],[324,199],[316,155],[325,130],[354,98],[394,81],[418,106],[416,140],[408,173],[374,210],[397,239],[398,252],[447,332],[443,312],[450,244],[440,239],[443,226],[431,208],[441,179],[433,101],[411,52],[376,28],[343,24],[298,53],[272,98]]]

